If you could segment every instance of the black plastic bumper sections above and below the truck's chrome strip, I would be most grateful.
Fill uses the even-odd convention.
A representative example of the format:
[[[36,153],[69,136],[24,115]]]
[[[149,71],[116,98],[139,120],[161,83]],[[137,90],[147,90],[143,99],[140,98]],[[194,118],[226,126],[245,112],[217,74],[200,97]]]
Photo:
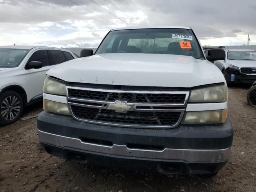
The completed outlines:
[[[188,126],[173,129],[119,128],[78,122],[70,116],[42,112],[38,116],[38,130],[85,142],[103,141],[107,144],[155,146],[171,149],[222,150],[232,145],[233,129],[230,120],[220,125]],[[101,143],[97,143],[101,144]],[[77,148],[53,146],[42,143],[45,150],[61,158],[100,166],[146,168],[161,173],[211,174],[218,172],[226,162],[193,163],[182,160],[139,158],[103,154]]]

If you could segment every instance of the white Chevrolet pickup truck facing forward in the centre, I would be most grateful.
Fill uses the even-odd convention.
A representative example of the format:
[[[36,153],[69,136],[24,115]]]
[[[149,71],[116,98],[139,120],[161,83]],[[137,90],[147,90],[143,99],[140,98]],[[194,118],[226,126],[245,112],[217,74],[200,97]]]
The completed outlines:
[[[167,174],[216,174],[228,161],[226,80],[210,62],[223,50],[206,57],[191,28],[160,26],[111,30],[80,56],[47,72],[38,136],[48,153]]]

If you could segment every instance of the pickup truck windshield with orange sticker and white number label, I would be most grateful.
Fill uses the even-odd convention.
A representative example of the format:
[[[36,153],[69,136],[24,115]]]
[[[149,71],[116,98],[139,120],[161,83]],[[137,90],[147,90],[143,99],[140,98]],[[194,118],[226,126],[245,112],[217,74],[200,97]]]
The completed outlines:
[[[189,29],[132,29],[111,31],[96,54],[174,54],[204,59],[202,49]]]

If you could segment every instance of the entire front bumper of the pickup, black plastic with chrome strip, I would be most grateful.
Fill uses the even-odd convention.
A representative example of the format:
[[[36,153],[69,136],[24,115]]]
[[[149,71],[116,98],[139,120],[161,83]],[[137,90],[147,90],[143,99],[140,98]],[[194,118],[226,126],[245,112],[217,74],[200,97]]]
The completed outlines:
[[[38,116],[38,137],[50,154],[78,162],[104,166],[106,162],[144,161],[160,172],[192,174],[212,173],[224,166],[233,130],[229,120],[215,126],[152,130],[89,124],[42,112]],[[96,160],[99,157],[104,160]],[[170,171],[161,166],[164,163],[180,168]]]

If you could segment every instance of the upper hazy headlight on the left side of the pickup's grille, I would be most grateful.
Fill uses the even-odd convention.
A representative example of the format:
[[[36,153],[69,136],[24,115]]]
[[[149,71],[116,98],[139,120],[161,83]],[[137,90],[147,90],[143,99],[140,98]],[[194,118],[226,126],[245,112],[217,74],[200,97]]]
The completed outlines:
[[[44,80],[44,92],[54,95],[66,96],[66,84],[52,78],[47,78]]]

